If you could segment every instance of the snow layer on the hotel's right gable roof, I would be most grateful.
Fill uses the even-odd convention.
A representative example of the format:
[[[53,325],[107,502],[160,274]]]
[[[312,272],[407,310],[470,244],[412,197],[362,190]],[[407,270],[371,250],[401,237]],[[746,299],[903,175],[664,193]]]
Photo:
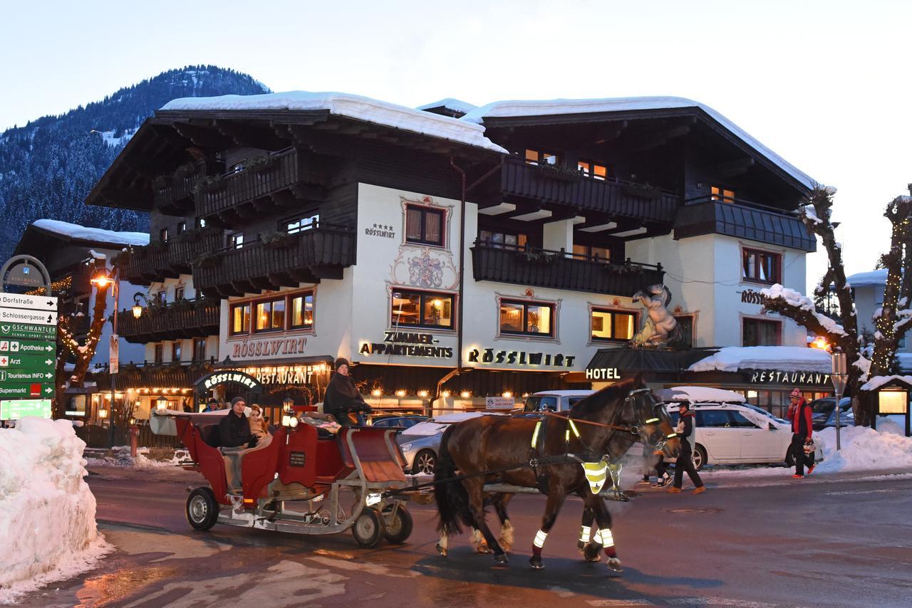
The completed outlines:
[[[741,129],[730,119],[699,101],[678,97],[637,97],[637,98],[605,98],[605,99],[546,99],[546,100],[510,100],[494,101],[481,108],[473,109],[460,120],[464,122],[482,123],[488,118],[513,118],[524,116],[552,116],[561,114],[595,114],[600,112],[623,112],[631,110],[669,109],[669,108],[700,108],[713,119],[729,129],[731,133],[743,140],[751,148],[757,150],[762,156],[774,165],[791,175],[807,188],[814,188],[814,180],[802,170],[799,170],[789,161],[764,146],[750,133]]]

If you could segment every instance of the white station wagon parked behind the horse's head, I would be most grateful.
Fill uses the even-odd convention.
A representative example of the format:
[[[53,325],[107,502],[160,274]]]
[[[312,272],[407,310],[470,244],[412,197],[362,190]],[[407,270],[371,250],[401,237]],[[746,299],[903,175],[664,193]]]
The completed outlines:
[[[785,463],[793,465],[792,425],[770,412],[746,403],[743,396],[708,386],[676,386],[656,391],[678,424],[678,403],[689,401],[695,416],[693,464]],[[814,438],[814,458],[824,459],[823,445]]]

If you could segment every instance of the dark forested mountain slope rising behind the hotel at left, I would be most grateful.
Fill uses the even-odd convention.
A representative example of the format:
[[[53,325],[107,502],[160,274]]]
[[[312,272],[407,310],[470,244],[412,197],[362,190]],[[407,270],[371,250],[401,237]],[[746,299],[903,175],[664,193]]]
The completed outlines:
[[[29,222],[52,218],[117,231],[145,231],[143,213],[83,201],[144,119],[174,98],[268,93],[246,74],[190,66],[121,88],[102,101],[0,134],[0,263]]]

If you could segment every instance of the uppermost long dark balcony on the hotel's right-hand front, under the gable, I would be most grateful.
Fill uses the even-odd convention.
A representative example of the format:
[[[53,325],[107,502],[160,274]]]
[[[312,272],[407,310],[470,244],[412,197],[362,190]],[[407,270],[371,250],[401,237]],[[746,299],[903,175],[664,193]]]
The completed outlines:
[[[550,165],[532,165],[522,159],[503,160],[501,192],[522,197],[601,211],[644,222],[674,222],[683,199],[641,184],[596,180],[576,171]]]

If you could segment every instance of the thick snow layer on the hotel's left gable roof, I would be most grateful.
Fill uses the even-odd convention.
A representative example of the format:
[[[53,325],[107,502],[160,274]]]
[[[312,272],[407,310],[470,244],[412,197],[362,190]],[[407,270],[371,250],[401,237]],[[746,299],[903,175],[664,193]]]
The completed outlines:
[[[348,119],[403,129],[430,137],[506,153],[506,150],[484,137],[484,128],[449,116],[420,109],[406,108],[386,101],[348,93],[287,91],[264,95],[223,95],[215,98],[180,98],[165,104],[162,110],[327,110]]]

